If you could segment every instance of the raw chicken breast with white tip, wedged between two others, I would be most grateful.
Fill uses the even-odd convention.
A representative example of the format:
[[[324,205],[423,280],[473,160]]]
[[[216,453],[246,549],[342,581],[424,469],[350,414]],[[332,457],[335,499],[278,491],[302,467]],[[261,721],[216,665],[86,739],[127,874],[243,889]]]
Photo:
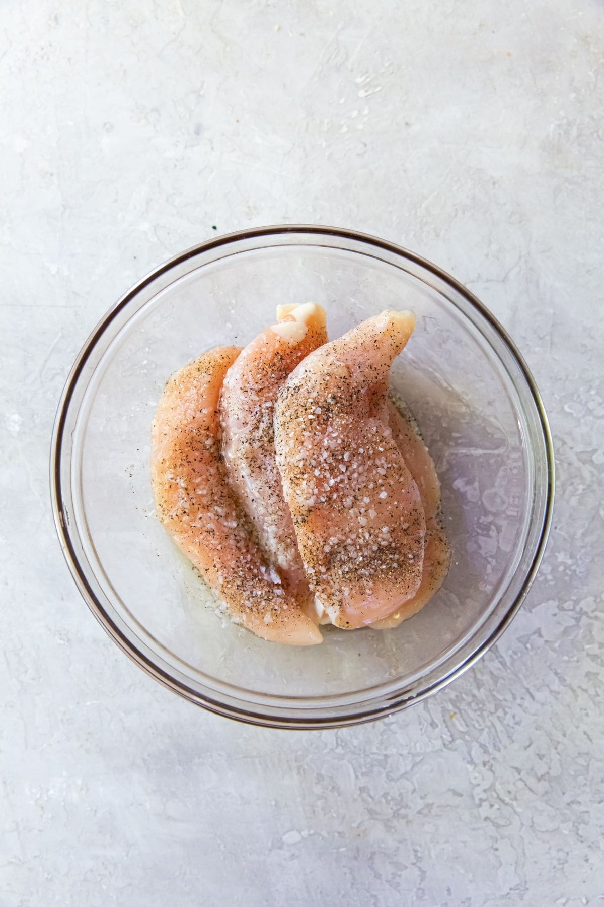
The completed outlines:
[[[309,596],[292,515],[274,458],[274,405],[285,378],[325,343],[321,306],[280,306],[278,324],[245,346],[225,376],[220,424],[228,478],[264,551],[299,597]]]

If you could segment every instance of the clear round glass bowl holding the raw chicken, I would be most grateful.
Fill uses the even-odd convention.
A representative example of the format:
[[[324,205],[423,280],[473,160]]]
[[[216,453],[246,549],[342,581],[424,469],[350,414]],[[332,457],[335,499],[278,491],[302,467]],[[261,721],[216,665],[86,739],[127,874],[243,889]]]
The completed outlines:
[[[392,383],[417,418],[443,490],[453,561],[397,629],[325,628],[279,646],[224,622],[154,517],[149,433],[177,368],[244,345],[279,303],[327,309],[338,336],[385,308],[417,328]],[[110,309],[78,356],[53,433],[53,508],[65,558],[101,624],[152,677],[199,706],[273,727],[389,715],[484,654],[518,610],[551,522],[551,436],[532,376],[503,328],[444,271],[346,229],[282,226],[172,258]]]

